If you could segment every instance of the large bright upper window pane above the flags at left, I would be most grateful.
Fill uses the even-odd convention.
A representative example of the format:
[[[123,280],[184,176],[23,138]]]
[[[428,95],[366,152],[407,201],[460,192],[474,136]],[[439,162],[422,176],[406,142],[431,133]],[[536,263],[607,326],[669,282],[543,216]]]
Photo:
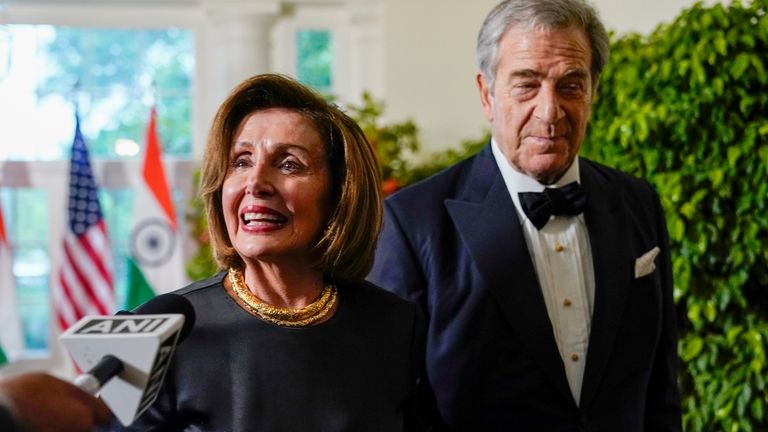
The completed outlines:
[[[194,37],[180,29],[0,28],[0,160],[66,159],[74,106],[94,157],[133,158],[157,104],[164,153],[191,153]],[[124,148],[124,147],[122,147]]]

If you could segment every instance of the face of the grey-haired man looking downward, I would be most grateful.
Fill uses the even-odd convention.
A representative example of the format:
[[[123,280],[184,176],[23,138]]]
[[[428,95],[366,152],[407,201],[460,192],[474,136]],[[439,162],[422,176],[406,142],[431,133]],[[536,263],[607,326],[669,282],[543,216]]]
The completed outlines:
[[[511,27],[498,53],[493,88],[477,75],[493,138],[517,170],[552,184],[573,162],[587,129],[589,40],[575,27]]]

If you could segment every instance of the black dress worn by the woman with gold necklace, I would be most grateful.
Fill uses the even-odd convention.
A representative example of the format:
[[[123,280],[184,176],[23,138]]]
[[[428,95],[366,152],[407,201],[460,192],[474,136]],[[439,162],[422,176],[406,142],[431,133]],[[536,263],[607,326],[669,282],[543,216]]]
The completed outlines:
[[[416,305],[367,282],[337,284],[333,317],[286,328],[240,307],[225,275],[176,291],[194,305],[195,326],[176,348],[158,400],[127,430],[424,429]],[[125,430],[117,421],[110,429]]]

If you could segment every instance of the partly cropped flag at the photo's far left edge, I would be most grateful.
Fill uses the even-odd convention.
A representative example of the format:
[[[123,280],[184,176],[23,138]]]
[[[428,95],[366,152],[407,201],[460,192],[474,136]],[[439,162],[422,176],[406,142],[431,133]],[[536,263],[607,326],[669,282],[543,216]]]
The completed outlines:
[[[11,265],[11,245],[5,231],[3,208],[0,206],[0,366],[24,354],[24,336]]]

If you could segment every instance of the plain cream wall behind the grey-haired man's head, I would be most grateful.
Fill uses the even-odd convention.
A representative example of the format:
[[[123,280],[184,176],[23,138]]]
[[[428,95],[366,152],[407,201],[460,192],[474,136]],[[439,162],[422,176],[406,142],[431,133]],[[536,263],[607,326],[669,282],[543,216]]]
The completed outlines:
[[[496,0],[385,0],[385,115],[410,117],[423,151],[457,146],[486,127],[475,87],[477,31]],[[693,0],[593,0],[608,29],[648,33]]]

